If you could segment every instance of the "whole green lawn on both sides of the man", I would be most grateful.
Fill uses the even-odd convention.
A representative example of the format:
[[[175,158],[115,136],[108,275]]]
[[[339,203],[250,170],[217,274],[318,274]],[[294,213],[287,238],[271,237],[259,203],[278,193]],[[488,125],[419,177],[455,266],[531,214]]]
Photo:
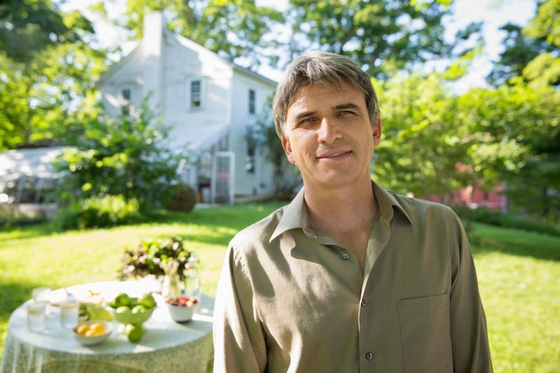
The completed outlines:
[[[199,254],[214,295],[227,242],[278,203],[199,208],[157,223],[51,233],[47,225],[0,232],[0,358],[8,318],[37,286],[115,278],[124,248],[179,234]],[[474,225],[472,246],[496,373],[560,371],[560,238]]]

